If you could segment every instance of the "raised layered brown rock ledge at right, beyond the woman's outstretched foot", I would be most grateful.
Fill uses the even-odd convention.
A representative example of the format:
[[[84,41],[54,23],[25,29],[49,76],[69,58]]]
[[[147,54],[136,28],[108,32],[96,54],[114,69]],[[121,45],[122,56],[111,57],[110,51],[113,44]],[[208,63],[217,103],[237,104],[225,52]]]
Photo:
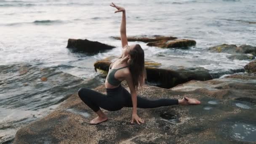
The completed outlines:
[[[254,79],[243,77],[224,77],[207,81],[191,80],[187,83],[171,88],[173,91],[197,91],[217,99],[250,99],[256,100],[256,76]]]

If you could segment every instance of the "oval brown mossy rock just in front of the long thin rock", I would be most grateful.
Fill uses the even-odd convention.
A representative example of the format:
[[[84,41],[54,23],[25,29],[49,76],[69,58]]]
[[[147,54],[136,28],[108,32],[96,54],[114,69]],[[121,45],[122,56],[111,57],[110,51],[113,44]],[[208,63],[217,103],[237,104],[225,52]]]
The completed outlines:
[[[196,45],[195,40],[160,40],[147,44],[148,46],[157,46],[160,48],[187,48]]]

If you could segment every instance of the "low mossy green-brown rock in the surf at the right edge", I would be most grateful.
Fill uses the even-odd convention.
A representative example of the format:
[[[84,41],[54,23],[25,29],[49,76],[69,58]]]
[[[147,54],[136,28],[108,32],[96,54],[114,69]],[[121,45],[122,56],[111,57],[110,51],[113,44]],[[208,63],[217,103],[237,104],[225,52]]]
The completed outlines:
[[[256,47],[251,45],[241,45],[237,47],[236,45],[222,44],[210,47],[209,50],[218,53],[250,53],[256,56]]]

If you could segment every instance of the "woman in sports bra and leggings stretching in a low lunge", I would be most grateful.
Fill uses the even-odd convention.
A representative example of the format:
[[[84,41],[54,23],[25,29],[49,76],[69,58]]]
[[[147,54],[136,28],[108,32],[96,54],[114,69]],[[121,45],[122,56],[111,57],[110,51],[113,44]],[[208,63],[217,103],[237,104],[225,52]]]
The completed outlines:
[[[120,35],[122,41],[122,55],[114,61],[110,67],[105,81],[105,87],[107,95],[93,91],[88,88],[80,88],[78,95],[82,101],[88,105],[98,117],[91,120],[90,124],[98,124],[107,120],[101,109],[109,111],[116,111],[123,107],[132,107],[132,120],[131,123],[144,123],[137,115],[137,107],[139,108],[155,108],[162,106],[170,106],[174,104],[200,104],[200,101],[196,99],[189,99],[184,97],[183,99],[157,99],[149,100],[137,96],[136,90],[141,87],[145,80],[145,68],[144,68],[144,51],[140,45],[128,45],[126,37],[126,20],[125,9],[117,6],[114,3],[110,6],[117,8],[117,12],[123,12]],[[122,87],[121,82],[126,80],[130,88],[129,93]]]

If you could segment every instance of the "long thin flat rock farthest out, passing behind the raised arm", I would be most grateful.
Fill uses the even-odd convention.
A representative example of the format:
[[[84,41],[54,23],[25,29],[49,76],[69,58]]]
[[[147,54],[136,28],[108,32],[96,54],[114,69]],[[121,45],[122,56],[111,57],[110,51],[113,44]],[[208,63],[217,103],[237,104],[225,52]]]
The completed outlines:
[[[116,40],[121,40],[120,37],[112,37]],[[134,42],[134,41],[140,41],[140,42],[144,42],[144,43],[148,43],[148,42],[155,42],[158,40],[174,40],[177,37],[165,37],[165,36],[161,36],[161,35],[154,35],[152,37],[149,36],[135,36],[135,37],[127,37],[127,40],[129,42]]]

